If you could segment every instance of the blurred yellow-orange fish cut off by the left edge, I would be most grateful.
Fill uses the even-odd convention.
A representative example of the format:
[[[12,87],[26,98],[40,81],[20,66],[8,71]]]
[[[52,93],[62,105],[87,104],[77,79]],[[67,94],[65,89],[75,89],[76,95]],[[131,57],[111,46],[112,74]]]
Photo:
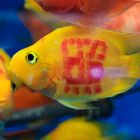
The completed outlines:
[[[9,117],[13,110],[11,81],[7,73],[10,57],[0,49],[0,120]]]

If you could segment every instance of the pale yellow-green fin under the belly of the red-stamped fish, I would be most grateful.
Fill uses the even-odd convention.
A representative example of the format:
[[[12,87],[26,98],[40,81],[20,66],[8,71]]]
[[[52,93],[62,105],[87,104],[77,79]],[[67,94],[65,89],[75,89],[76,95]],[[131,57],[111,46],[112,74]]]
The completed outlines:
[[[76,101],[66,101],[66,100],[57,100],[59,103],[63,104],[72,109],[84,110],[84,109],[97,109],[98,107],[93,106],[90,102],[76,102]]]

